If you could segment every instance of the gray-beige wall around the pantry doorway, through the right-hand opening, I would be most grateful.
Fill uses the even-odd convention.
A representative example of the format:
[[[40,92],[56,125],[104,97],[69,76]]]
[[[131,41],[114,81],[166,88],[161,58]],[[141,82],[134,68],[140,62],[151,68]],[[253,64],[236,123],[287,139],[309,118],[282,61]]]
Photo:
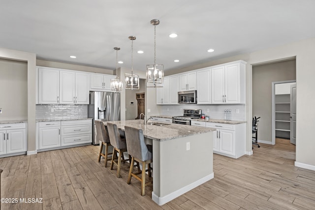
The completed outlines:
[[[295,60],[252,67],[252,116],[258,122],[258,140],[272,142],[272,82],[295,80]]]

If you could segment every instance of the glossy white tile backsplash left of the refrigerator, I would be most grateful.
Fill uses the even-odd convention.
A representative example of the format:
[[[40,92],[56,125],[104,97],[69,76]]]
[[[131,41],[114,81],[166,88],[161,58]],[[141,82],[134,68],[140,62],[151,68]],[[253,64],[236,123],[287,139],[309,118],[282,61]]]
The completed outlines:
[[[88,117],[88,105],[38,104],[36,119],[71,120]]]

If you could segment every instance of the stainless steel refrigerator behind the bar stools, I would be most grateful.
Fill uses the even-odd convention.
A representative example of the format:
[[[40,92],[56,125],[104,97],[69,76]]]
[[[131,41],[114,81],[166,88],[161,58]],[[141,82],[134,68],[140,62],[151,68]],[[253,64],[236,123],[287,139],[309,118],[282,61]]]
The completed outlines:
[[[98,145],[99,143],[95,142],[96,128],[94,120],[120,120],[120,93],[91,91],[88,117],[93,118],[93,145]]]

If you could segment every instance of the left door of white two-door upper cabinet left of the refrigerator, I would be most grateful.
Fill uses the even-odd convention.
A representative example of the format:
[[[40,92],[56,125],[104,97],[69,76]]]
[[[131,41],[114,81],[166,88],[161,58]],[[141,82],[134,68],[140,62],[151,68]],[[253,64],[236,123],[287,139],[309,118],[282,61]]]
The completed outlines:
[[[75,103],[75,73],[60,71],[60,103]]]

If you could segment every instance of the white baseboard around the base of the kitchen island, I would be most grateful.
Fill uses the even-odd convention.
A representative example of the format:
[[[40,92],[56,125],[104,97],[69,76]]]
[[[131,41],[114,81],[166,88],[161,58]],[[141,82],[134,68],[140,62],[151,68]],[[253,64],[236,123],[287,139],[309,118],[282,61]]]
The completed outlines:
[[[184,193],[187,193],[189,190],[192,190],[193,188],[199,186],[200,184],[203,184],[206,181],[212,180],[214,178],[214,173],[209,174],[208,176],[201,178],[200,180],[196,180],[192,182],[191,184],[182,187],[181,189],[178,189],[168,195],[165,195],[163,197],[158,197],[158,195],[154,194],[152,192],[152,200],[156,202],[159,206],[162,206],[166,204],[167,202],[177,198],[178,196],[183,195]]]

